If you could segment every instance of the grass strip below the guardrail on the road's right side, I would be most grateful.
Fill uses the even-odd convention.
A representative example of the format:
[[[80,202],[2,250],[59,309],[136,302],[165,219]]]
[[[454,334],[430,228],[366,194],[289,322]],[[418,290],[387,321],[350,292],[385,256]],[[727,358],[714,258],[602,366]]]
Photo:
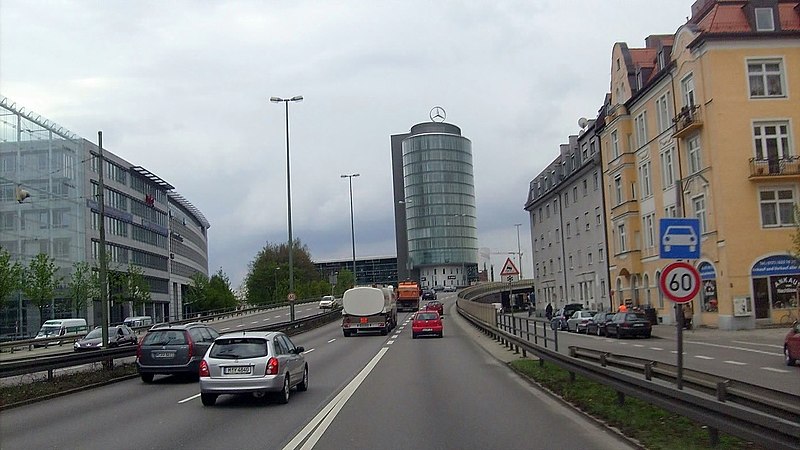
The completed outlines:
[[[762,448],[722,432],[719,445],[712,447],[708,429],[703,425],[630,396],[619,405],[614,389],[580,375],[570,381],[569,372],[550,363],[540,366],[537,360],[520,359],[513,361],[511,367],[647,449]]]

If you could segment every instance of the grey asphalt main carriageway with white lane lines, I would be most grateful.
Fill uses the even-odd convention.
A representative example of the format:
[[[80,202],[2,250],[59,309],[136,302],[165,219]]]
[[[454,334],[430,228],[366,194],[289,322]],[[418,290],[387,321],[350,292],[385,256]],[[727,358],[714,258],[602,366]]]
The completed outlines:
[[[498,362],[443,298],[442,339],[412,340],[409,313],[388,336],[293,337],[310,388],[288,405],[204,407],[197,382],[134,379],[3,411],[0,448],[631,448]]]

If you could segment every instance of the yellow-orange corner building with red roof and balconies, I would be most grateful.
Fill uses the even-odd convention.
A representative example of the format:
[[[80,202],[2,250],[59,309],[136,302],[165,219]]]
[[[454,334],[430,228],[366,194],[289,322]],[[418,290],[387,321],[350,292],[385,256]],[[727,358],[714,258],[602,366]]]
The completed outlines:
[[[612,303],[651,305],[659,221],[700,221],[696,324],[797,316],[791,257],[800,196],[800,2],[699,0],[674,35],[614,46],[601,131]]]

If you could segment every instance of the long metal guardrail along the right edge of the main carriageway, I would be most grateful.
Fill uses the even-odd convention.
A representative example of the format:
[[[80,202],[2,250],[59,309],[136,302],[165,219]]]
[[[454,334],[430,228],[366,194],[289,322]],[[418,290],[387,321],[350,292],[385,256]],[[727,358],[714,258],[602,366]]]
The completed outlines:
[[[684,386],[688,389],[680,390],[669,383],[673,379],[673,370],[677,373],[677,369],[668,364],[607,352],[592,353],[578,347],[575,350],[571,348],[570,355],[564,355],[529,341],[529,326],[526,328],[522,322],[533,321],[536,324],[541,319],[505,315],[510,317],[506,319],[498,315],[494,321],[487,321],[486,312],[475,305],[475,302],[459,298],[457,310],[473,325],[506,346],[517,352],[521,350],[523,355],[528,352],[536,355],[540,364],[545,361],[554,363],[569,371],[573,378],[580,374],[609,386],[617,391],[620,403],[630,395],[702,423],[708,427],[713,445],[718,443],[718,430],[725,430],[771,449],[800,448],[800,396],[703,372],[686,372],[685,369],[684,382],[687,379],[689,382]],[[547,326],[543,328],[546,330]],[[537,333],[534,331],[533,335]],[[555,331],[553,342],[557,342],[557,335],[558,331]],[[636,376],[629,373],[631,370],[637,372]]]

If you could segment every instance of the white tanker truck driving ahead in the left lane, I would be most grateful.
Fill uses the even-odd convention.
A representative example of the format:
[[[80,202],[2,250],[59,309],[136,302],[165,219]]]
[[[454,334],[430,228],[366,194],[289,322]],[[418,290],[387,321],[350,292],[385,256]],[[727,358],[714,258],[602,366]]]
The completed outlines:
[[[391,287],[355,287],[342,296],[342,332],[345,337],[359,331],[389,334],[397,325],[397,303]]]

